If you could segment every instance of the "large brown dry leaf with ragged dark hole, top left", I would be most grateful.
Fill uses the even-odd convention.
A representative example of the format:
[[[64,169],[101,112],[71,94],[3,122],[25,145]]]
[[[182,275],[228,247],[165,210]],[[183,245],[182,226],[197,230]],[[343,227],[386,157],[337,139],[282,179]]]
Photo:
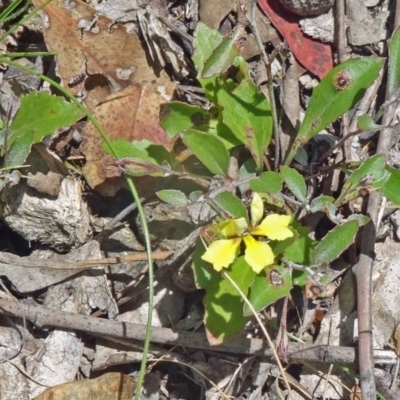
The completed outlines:
[[[33,0],[35,6],[43,2]],[[48,50],[58,53],[62,84],[74,95],[84,86],[89,108],[112,92],[157,78],[140,40],[82,1],[53,0],[42,13],[45,42]]]

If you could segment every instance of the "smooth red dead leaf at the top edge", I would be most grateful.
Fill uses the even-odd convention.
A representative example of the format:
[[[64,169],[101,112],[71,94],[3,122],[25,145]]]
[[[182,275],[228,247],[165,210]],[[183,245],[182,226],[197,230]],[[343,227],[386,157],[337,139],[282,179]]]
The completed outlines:
[[[258,0],[258,4],[307,70],[322,78],[333,68],[331,46],[305,36],[299,27],[300,17],[286,11],[277,1]]]

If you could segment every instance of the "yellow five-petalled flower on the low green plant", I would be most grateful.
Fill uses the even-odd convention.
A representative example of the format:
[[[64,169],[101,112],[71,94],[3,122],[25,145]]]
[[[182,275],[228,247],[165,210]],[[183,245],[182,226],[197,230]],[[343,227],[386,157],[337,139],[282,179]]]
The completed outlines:
[[[260,273],[265,267],[274,263],[274,253],[271,247],[258,241],[254,236],[265,236],[271,240],[285,240],[293,236],[288,228],[289,215],[270,214],[262,221],[264,203],[258,193],[254,193],[250,206],[250,224],[245,218],[229,219],[217,227],[226,239],[212,242],[201,257],[211,263],[215,270],[228,268],[235,260],[242,241],[246,246],[244,259],[254,272]],[[260,222],[261,221],[261,222]]]

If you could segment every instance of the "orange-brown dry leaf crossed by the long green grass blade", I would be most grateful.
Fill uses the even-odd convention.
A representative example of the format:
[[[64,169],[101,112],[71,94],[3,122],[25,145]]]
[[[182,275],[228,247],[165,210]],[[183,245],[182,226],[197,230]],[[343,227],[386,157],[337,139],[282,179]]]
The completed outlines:
[[[94,116],[112,140],[147,139],[169,149],[171,139],[159,125],[159,104],[166,101],[161,93],[170,93],[172,89],[173,84],[166,79],[163,84],[158,80],[131,86],[110,95],[95,108]],[[124,180],[118,179],[121,171],[111,165],[113,159],[103,150],[102,143],[96,128],[88,124],[80,147],[86,157],[82,170],[91,188],[104,196],[113,196],[124,186]]]

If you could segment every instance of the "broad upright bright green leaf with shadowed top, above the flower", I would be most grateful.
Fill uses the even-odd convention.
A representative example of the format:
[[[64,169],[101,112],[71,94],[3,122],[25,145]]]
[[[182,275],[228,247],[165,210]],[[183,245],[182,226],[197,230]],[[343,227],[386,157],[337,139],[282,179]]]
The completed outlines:
[[[218,104],[226,126],[250,150],[257,169],[262,170],[263,155],[271,140],[271,106],[250,79],[243,80],[233,91],[223,87]]]

